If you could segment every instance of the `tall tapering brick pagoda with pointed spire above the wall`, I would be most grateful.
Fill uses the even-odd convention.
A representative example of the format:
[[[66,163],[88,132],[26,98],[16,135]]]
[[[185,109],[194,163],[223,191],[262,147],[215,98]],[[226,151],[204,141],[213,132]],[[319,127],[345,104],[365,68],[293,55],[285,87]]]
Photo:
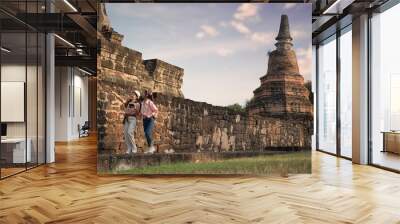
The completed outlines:
[[[299,73],[287,15],[281,16],[275,40],[276,50],[269,53],[268,71],[260,78],[261,86],[253,92],[254,98],[248,105],[249,113],[261,116],[312,116],[310,93]]]

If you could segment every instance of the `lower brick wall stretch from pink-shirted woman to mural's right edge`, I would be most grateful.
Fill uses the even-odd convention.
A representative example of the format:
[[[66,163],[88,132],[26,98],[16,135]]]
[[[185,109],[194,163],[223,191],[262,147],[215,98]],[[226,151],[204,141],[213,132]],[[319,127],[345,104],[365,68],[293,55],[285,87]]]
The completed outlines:
[[[226,107],[167,96],[158,98],[157,103],[161,113],[155,136],[161,150],[300,149],[311,145],[311,122],[302,118],[249,116]]]

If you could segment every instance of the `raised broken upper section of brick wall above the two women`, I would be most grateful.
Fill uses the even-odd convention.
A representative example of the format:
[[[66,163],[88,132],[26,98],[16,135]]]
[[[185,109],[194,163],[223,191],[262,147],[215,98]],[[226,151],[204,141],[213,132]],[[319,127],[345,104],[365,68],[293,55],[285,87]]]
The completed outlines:
[[[123,47],[124,36],[112,28],[103,29],[99,37],[98,78],[114,82],[116,86],[137,90],[153,90],[171,96],[183,97],[181,86],[183,69],[159,59],[143,60],[142,53]],[[129,86],[126,86],[126,82]],[[129,91],[127,89],[127,91]],[[134,90],[134,89],[133,89]]]

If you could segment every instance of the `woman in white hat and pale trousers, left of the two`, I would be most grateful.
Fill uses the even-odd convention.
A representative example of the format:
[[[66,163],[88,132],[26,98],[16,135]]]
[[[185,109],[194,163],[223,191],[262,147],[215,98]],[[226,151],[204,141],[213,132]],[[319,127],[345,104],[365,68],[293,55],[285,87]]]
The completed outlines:
[[[140,113],[140,103],[139,103],[140,92],[135,90],[135,94],[132,98],[128,99],[125,106],[124,114],[124,139],[127,151],[126,153],[137,153],[137,147],[135,143],[135,128],[136,121]]]

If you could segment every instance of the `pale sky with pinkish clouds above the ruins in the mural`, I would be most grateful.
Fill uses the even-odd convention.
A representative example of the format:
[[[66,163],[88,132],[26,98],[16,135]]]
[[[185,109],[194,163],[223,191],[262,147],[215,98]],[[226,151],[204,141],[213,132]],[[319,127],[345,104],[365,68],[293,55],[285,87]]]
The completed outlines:
[[[311,76],[311,4],[108,3],[123,45],[184,69],[185,98],[244,104],[267,72],[280,17],[287,14],[300,73]]]

